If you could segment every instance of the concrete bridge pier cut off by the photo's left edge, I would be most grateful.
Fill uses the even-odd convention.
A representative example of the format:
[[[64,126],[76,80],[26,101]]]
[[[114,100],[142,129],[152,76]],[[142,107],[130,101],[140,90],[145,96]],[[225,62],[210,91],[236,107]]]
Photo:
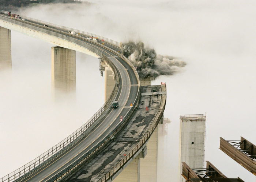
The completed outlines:
[[[0,27],[0,69],[11,68],[11,30]]]

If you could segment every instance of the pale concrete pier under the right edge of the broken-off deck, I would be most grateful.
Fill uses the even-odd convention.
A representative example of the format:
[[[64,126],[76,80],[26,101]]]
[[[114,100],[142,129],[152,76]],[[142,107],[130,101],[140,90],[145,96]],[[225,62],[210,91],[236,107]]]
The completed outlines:
[[[148,139],[147,155],[140,159],[140,181],[157,181],[157,146],[158,146],[158,126]]]

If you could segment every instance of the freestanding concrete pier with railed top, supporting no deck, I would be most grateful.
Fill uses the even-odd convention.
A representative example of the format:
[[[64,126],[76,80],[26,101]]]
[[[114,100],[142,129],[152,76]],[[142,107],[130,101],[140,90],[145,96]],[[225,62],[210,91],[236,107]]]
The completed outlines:
[[[179,171],[182,162],[193,168],[204,168],[206,116],[203,114],[180,115]],[[180,176],[180,181],[185,179]]]

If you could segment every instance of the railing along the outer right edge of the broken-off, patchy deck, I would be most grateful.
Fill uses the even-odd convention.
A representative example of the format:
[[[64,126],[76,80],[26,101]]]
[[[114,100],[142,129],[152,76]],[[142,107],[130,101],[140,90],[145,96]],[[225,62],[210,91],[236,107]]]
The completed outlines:
[[[165,88],[166,91],[166,84],[161,85],[162,88]],[[164,104],[163,104],[164,102]],[[113,177],[114,174],[118,172],[123,166],[136,154],[137,151],[140,150],[141,147],[146,143],[146,141],[149,139],[153,131],[155,130],[155,127],[157,127],[157,124],[159,120],[162,118],[163,111],[165,110],[165,104],[166,104],[166,96],[165,98],[161,98],[161,112],[158,112],[157,116],[155,117],[153,123],[151,124],[151,128],[146,132],[146,134],[143,136],[142,139],[140,139],[139,143],[132,149],[132,151],[129,152],[129,154],[126,154],[123,159],[121,159],[120,162],[118,162],[106,175],[105,177],[101,178],[98,182],[105,182]]]

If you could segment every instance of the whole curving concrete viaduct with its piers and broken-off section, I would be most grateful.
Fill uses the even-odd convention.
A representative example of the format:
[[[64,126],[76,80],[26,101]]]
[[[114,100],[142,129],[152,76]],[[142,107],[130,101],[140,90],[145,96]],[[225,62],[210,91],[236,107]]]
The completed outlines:
[[[107,67],[105,103],[82,127],[33,161],[0,178],[0,182],[156,181],[155,128],[165,108],[165,84],[143,86],[151,85],[151,80],[139,79],[132,63],[120,54],[116,41],[25,16],[17,19],[0,14],[1,67],[11,67],[10,30],[57,46],[52,47],[52,83],[56,90],[75,88],[75,51],[99,58],[101,66]],[[97,37],[98,42],[86,39],[87,36]],[[119,102],[116,109],[112,108],[114,100]],[[150,155],[150,150],[151,158],[140,161],[147,153]],[[144,179],[140,176],[143,173]]]

